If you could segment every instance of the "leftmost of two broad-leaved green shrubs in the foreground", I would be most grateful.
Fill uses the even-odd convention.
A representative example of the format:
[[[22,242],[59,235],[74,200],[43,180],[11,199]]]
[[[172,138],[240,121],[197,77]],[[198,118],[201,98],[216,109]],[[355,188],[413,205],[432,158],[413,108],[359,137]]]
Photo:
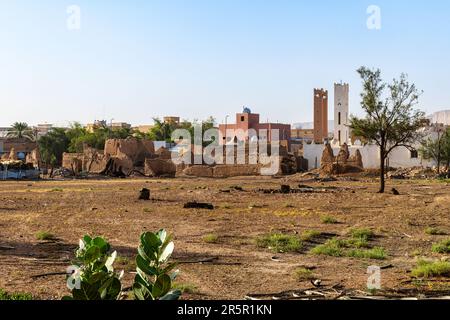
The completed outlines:
[[[114,272],[113,263],[117,252],[105,239],[84,236],[75,253],[79,269],[79,286],[72,289],[72,296],[64,300],[117,300],[122,290],[122,275]]]

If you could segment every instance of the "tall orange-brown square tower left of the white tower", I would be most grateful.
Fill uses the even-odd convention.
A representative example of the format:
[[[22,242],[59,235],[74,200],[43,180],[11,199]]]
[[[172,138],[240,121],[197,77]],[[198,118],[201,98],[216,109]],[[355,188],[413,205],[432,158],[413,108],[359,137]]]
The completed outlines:
[[[314,142],[328,140],[328,91],[314,89]]]

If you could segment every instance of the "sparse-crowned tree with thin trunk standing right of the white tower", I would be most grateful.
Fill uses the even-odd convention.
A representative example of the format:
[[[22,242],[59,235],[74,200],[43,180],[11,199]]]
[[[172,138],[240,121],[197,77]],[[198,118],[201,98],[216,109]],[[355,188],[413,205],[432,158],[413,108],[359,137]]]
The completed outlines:
[[[418,129],[424,126],[424,113],[414,109],[419,92],[405,74],[387,84],[381,79],[379,69],[361,67],[358,73],[363,81],[361,107],[366,117],[351,116],[350,128],[356,136],[379,147],[379,192],[384,193],[386,159],[397,147],[412,149],[412,144],[420,139]]]

